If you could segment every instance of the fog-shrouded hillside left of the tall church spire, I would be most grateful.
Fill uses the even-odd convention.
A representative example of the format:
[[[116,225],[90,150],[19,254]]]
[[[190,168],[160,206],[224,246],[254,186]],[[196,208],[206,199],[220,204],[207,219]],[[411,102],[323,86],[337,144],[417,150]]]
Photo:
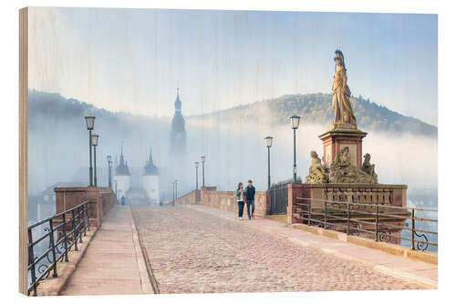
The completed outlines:
[[[162,164],[168,152],[170,119],[111,112],[59,94],[28,91],[28,172],[30,193],[75,178],[80,167],[88,167],[88,130],[84,116],[96,116],[94,133],[99,135],[98,166],[106,157],[120,156],[120,145],[129,165],[143,167],[153,147],[154,161]],[[101,168],[100,168],[101,169]],[[102,172],[99,172],[102,174]]]

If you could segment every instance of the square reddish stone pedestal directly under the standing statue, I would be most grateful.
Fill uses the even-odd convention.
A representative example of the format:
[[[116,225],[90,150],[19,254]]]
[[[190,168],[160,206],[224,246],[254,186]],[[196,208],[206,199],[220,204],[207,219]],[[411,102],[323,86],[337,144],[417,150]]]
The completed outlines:
[[[363,138],[368,133],[358,130],[358,128],[331,128],[326,133],[318,136],[323,141],[323,163],[329,167],[334,157],[348,146],[350,162],[358,168],[363,164]]]

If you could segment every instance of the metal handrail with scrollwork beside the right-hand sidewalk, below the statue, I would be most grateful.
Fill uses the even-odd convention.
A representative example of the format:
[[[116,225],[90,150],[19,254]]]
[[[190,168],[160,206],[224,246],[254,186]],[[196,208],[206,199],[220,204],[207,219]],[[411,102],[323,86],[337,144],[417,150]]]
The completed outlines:
[[[399,239],[408,240],[411,243],[412,249],[426,250],[430,245],[438,247],[437,243],[429,241],[428,237],[425,234],[431,234],[438,236],[437,231],[426,230],[422,228],[415,227],[415,221],[427,221],[438,223],[437,219],[426,218],[426,217],[416,217],[416,211],[430,211],[437,212],[437,209],[433,208],[422,208],[422,207],[393,207],[381,204],[366,204],[366,203],[356,203],[356,202],[346,202],[346,201],[333,201],[326,200],[321,198],[307,198],[307,197],[295,197],[296,200],[306,201],[306,203],[295,202],[295,205],[303,207],[297,209],[297,217],[303,219],[307,222],[308,225],[316,223],[317,225],[323,226],[325,229],[328,227],[343,227],[347,229],[347,235],[350,234],[361,234],[368,233],[375,235],[376,241],[388,240],[390,237],[395,237]],[[320,202],[320,205],[312,205],[312,201]],[[321,203],[323,202],[323,203]],[[334,207],[333,204],[343,205],[344,207]],[[373,211],[368,212],[367,209],[359,210],[355,207],[366,207],[374,208]],[[380,211],[381,208],[381,211]],[[397,210],[401,210],[402,213],[399,213]],[[315,211],[318,210],[318,211]],[[328,214],[328,210],[334,210],[337,213]],[[388,212],[393,210],[395,212]],[[399,214],[401,216],[399,216]],[[301,216],[304,215],[304,216]],[[361,215],[361,216],[359,216]],[[364,216],[363,216],[364,215]],[[355,217],[353,217],[355,216]],[[370,217],[366,219],[365,217]],[[407,226],[396,226],[384,222],[380,222],[380,218],[390,219],[390,220],[411,220],[411,227]],[[333,222],[328,222],[332,220]],[[346,225],[342,225],[339,222],[347,222]],[[335,223],[337,222],[337,223]],[[370,225],[375,227],[375,231],[362,228],[362,225]],[[411,237],[402,237],[401,235],[396,236],[390,233],[389,227],[395,229],[406,229],[410,231]],[[379,228],[384,228],[387,230],[380,231]],[[421,234],[419,234],[419,232]],[[422,237],[425,240],[417,239],[416,237]]]

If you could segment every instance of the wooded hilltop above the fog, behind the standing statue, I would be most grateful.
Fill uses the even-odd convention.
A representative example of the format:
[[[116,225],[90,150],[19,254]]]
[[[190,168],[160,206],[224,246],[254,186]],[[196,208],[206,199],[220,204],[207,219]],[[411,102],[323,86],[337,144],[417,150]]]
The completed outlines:
[[[362,130],[437,136],[436,126],[417,118],[400,115],[362,96],[352,97],[351,101],[358,127]],[[329,94],[286,95],[192,118],[217,117],[228,121],[244,120],[276,126],[288,124],[290,116],[298,115],[305,123],[329,126],[334,117],[331,104],[332,95]]]

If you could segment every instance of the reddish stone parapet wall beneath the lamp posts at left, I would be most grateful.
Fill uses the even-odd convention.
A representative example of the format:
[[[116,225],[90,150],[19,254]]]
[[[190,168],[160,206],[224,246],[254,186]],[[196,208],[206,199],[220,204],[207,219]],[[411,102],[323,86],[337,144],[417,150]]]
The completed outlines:
[[[55,187],[54,191],[57,214],[90,200],[90,226],[101,226],[103,217],[117,204],[116,194],[110,187]]]

